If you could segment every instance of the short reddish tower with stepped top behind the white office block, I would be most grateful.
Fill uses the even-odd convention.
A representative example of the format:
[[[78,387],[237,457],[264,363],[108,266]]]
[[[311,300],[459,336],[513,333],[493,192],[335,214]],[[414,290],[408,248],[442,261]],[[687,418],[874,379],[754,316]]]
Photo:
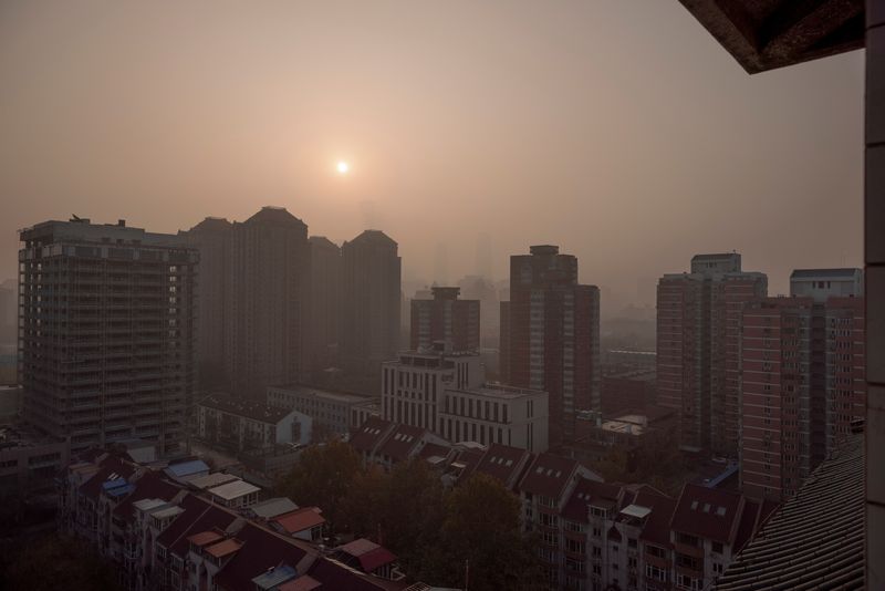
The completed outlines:
[[[412,300],[410,345],[450,343],[454,351],[479,350],[479,300],[459,300],[460,288],[431,288],[433,300]]]

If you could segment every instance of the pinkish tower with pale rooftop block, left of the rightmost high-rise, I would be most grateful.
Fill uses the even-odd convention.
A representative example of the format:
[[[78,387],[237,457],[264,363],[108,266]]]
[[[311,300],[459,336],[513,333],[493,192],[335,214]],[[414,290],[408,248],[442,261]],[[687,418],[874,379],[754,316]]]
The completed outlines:
[[[733,252],[697,255],[690,273],[658,281],[657,396],[679,413],[684,447],[738,455],[740,314],[767,290]]]

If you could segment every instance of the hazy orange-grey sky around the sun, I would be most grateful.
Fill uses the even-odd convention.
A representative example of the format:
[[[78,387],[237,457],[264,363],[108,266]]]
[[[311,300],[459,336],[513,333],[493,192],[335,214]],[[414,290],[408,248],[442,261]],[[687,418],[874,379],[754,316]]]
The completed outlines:
[[[486,232],[498,278],[559,243],[610,311],[702,251],[783,292],[861,265],[862,105],[861,52],[750,76],[677,0],[3,0],[0,277],[44,219],[278,205],[428,280]]]

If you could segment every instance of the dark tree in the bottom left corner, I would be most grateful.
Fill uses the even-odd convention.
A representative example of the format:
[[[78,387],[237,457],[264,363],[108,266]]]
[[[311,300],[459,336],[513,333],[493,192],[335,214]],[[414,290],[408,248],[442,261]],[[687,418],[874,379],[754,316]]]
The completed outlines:
[[[53,536],[22,542],[13,556],[4,557],[6,574],[0,587],[31,591],[115,591],[113,567],[73,538]]]

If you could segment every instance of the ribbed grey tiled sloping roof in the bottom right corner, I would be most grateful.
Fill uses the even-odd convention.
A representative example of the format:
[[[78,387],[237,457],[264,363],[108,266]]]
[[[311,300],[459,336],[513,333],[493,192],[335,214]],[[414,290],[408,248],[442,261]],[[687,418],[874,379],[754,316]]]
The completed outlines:
[[[821,463],[738,553],[716,589],[863,589],[863,436],[855,435]]]

